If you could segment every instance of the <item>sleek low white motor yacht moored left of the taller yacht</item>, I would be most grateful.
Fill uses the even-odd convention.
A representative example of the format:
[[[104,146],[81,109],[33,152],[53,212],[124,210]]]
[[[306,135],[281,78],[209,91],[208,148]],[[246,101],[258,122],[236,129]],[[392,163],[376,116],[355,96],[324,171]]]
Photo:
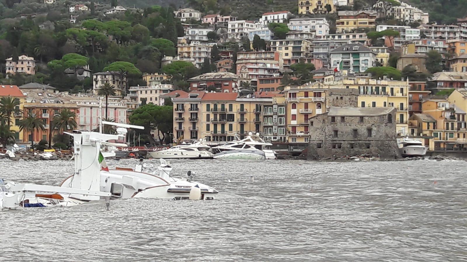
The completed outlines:
[[[214,154],[209,152],[211,147],[198,141],[194,144],[175,145],[166,150],[149,152],[154,159],[206,159],[212,158]]]

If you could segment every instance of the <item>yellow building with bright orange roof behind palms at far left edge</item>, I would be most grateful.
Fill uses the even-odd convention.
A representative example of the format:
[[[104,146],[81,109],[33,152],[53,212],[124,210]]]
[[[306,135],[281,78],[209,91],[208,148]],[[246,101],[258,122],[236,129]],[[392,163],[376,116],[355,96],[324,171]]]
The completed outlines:
[[[23,92],[15,85],[0,85],[0,98],[12,97],[20,100],[20,105],[16,106],[10,116],[10,130],[14,132],[14,138],[17,142],[22,142],[23,132],[20,131],[19,123],[23,117],[24,102],[26,101]]]

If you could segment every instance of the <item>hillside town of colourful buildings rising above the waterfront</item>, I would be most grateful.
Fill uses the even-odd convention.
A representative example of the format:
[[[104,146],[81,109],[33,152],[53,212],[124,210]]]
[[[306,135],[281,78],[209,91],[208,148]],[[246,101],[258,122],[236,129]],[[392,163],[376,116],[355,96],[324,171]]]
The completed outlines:
[[[297,6],[295,14],[271,10],[252,21],[189,7],[102,11],[163,16],[175,35],[162,30],[151,38],[153,29],[139,23],[80,20],[96,12],[93,2],[71,5],[67,43],[86,51],[60,60],[40,50],[5,59],[0,140],[67,147],[64,131],[98,130],[105,118],[149,127],[134,134],[133,145],[202,139],[214,146],[253,133],[278,150],[309,148],[312,159],[390,158],[403,138],[431,152],[467,150],[467,18],[437,24],[398,0],[359,10],[353,0]],[[96,71],[96,54],[132,41],[150,43],[138,62],[117,55]],[[149,58],[155,53],[159,58]],[[60,86],[35,77],[44,68],[50,79],[62,78]],[[76,84],[65,91],[67,79]]]

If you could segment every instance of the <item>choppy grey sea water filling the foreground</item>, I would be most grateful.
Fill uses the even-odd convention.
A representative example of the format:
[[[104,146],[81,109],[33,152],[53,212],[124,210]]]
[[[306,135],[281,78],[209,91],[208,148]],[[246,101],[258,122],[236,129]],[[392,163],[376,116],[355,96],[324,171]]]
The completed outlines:
[[[0,260],[467,260],[465,161],[171,165],[197,173],[217,200],[2,212]],[[71,172],[67,161],[0,161],[0,177],[18,182],[58,185]]]

